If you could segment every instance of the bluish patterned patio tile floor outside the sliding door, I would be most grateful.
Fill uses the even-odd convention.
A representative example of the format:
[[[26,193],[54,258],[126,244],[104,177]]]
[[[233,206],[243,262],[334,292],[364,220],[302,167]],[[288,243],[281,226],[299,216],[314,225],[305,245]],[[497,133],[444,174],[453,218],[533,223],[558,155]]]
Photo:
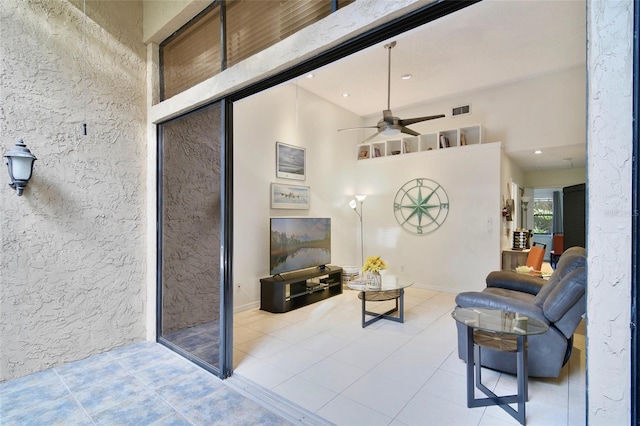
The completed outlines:
[[[292,423],[164,346],[143,342],[1,383],[0,424]]]

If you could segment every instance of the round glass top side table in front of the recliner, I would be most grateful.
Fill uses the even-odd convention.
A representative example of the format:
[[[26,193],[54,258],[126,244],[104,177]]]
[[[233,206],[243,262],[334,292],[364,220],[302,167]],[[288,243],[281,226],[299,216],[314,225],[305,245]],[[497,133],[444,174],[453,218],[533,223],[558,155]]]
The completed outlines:
[[[525,403],[529,399],[527,336],[545,333],[549,329],[547,324],[517,312],[501,309],[457,307],[451,316],[467,327],[467,407],[499,405],[524,425],[526,423]],[[482,384],[480,347],[516,352],[517,395],[498,396]],[[476,399],[474,387],[481,390],[488,398]],[[518,404],[517,411],[509,406],[513,403]]]

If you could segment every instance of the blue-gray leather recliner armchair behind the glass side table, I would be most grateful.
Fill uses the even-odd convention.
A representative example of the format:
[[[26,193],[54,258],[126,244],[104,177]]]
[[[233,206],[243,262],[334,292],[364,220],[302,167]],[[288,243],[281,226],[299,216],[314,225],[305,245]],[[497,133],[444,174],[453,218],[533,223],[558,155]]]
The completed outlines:
[[[544,321],[549,331],[529,337],[529,376],[558,377],[569,360],[573,333],[585,313],[587,257],[582,247],[566,250],[548,281],[512,271],[495,271],[487,276],[482,292],[465,292],[456,296],[463,308],[503,309]],[[458,356],[467,359],[466,330],[458,327]],[[481,348],[482,365],[507,373],[516,372],[513,352]]]

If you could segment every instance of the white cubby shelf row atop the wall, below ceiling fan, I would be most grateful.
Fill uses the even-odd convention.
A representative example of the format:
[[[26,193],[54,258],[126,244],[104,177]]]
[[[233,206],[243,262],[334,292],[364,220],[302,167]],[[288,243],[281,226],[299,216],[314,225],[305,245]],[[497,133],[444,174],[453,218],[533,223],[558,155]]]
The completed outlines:
[[[420,136],[400,136],[386,141],[368,142],[357,146],[358,160],[479,145],[482,143],[483,133],[482,125],[477,124]]]

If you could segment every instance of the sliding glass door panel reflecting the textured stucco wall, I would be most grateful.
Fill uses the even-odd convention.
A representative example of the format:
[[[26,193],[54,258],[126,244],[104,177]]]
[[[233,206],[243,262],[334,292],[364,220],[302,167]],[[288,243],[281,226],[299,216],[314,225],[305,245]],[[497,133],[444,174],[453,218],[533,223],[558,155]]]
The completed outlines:
[[[158,338],[223,375],[222,104],[159,126]],[[223,254],[223,253],[222,253]]]

